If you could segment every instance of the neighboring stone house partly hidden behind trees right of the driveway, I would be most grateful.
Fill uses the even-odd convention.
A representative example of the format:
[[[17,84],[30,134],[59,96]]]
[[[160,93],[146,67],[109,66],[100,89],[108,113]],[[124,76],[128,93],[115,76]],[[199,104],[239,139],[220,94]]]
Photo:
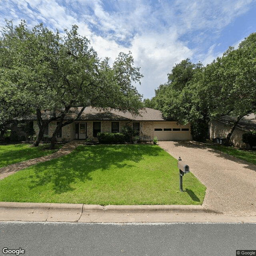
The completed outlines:
[[[212,121],[209,124],[210,130],[210,139],[214,138],[226,138],[228,133],[231,131],[232,124],[234,123],[235,118],[231,116],[223,116],[218,121]],[[236,126],[234,130],[230,142],[234,144],[234,146],[246,148],[248,145],[242,142],[242,135],[248,131],[256,131],[256,118],[255,114],[250,114],[248,116],[244,116]]]

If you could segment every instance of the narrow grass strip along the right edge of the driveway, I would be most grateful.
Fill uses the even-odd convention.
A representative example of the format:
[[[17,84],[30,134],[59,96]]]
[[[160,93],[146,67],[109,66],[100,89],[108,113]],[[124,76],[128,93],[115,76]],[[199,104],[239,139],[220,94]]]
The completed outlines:
[[[252,164],[256,164],[256,150],[242,150],[242,149],[232,148],[232,147],[228,147],[220,144],[216,146],[210,146],[210,147],[220,150],[226,154],[229,154],[230,156],[235,156],[236,158],[245,160]]]

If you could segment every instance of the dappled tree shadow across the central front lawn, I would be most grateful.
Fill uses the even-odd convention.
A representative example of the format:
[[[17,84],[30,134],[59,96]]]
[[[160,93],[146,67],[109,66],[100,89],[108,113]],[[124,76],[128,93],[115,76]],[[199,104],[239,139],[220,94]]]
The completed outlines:
[[[29,188],[50,185],[55,194],[73,191],[72,183],[76,179],[92,180],[90,173],[95,170],[104,172],[110,166],[132,167],[132,163],[124,161],[139,162],[143,156],[158,156],[161,151],[161,148],[151,145],[78,146],[67,156],[37,164],[35,174],[28,177],[31,180]]]

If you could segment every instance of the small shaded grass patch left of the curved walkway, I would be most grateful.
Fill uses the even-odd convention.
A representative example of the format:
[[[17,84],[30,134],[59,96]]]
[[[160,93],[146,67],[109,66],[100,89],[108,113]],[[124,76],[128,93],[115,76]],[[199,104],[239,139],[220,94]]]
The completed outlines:
[[[47,150],[49,146],[50,144],[43,144],[38,147],[31,147],[30,144],[0,145],[0,168],[40,156],[50,155],[62,147],[62,145],[55,145],[54,150]]]

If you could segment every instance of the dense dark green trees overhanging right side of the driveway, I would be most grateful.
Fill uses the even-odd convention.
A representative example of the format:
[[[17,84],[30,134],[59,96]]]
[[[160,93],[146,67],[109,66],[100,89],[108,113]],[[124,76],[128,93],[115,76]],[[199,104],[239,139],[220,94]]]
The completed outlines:
[[[256,33],[205,67],[182,60],[155,94],[146,103],[180,124],[191,122],[192,135],[199,141],[207,138],[210,120],[235,117],[228,143],[239,120],[256,111]]]

